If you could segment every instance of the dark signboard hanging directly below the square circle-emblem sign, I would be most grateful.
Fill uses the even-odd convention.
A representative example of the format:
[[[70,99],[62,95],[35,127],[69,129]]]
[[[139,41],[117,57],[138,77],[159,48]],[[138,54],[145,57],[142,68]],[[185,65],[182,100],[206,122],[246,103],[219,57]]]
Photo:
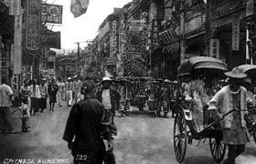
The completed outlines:
[[[60,32],[43,31],[42,45],[60,49]]]

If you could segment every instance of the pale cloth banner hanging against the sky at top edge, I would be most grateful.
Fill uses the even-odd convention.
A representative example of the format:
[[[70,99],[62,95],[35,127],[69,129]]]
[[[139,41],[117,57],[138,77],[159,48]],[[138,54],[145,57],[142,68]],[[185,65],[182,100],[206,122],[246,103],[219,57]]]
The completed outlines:
[[[86,13],[89,5],[89,0],[72,0],[70,5],[70,12],[74,17],[79,17]]]

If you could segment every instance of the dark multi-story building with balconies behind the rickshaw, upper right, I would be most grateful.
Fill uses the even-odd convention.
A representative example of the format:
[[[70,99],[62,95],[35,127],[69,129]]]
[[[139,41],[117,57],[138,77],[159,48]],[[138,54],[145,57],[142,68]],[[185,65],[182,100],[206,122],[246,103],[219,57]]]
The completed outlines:
[[[255,24],[254,0],[206,2],[165,0],[160,40],[163,60],[169,57],[163,67],[173,78],[180,62],[190,56],[218,57],[229,69],[245,64],[247,58],[252,63],[255,53],[253,45],[248,47],[246,32],[247,24]]]

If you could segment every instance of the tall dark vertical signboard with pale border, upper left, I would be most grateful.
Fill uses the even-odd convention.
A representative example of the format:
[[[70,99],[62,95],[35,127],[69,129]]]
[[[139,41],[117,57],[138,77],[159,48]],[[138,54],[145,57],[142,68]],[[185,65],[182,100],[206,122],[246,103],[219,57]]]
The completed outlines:
[[[37,51],[40,48],[41,0],[27,0],[26,23],[26,47],[30,51]]]

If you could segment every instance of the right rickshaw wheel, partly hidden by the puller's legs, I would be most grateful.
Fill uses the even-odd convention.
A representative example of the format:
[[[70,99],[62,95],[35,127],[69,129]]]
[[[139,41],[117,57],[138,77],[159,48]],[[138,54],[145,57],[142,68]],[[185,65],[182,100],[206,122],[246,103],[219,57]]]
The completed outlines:
[[[219,139],[209,138],[209,148],[212,155],[212,158],[216,162],[221,162],[224,159],[226,144],[221,143]]]

